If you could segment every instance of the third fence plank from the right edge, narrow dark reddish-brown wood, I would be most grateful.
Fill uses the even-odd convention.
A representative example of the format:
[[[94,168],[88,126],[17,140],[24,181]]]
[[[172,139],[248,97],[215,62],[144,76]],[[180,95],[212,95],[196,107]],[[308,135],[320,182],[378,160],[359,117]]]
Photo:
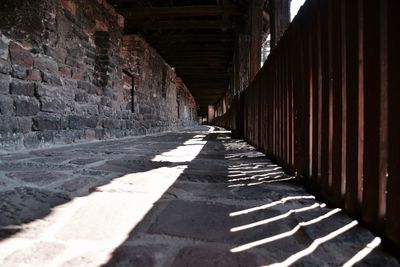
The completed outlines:
[[[358,125],[359,114],[363,114],[360,101],[363,95],[360,86],[362,77],[359,73],[362,70],[362,41],[359,33],[362,33],[362,12],[359,0],[346,1],[346,88],[347,88],[347,123],[346,123],[346,210],[353,216],[359,216],[361,210],[361,187],[362,172],[359,162],[362,165],[362,155],[359,154],[359,147],[362,148],[362,131]],[[360,52],[361,50],[361,52]],[[361,64],[359,64],[359,62]],[[362,103],[361,103],[362,104]],[[358,126],[358,127],[357,127]]]

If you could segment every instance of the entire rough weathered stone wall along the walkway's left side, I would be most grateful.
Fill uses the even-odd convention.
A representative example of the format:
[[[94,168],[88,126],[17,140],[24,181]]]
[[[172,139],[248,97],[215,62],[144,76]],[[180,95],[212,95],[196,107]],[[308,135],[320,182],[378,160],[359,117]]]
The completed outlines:
[[[143,39],[123,37],[124,19],[106,1],[2,0],[0,10],[0,150],[196,119],[186,87]],[[179,118],[177,100],[186,110]]]

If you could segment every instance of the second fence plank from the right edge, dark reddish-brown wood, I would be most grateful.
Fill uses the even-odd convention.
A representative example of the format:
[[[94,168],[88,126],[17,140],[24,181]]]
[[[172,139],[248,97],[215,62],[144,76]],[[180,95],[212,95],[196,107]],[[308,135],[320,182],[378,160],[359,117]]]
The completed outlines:
[[[387,101],[387,86],[384,84],[381,67],[384,60],[382,51],[382,29],[379,18],[382,6],[373,0],[363,2],[364,12],[364,179],[362,218],[374,229],[380,229],[383,222],[387,157],[384,153],[387,139],[384,110]]]

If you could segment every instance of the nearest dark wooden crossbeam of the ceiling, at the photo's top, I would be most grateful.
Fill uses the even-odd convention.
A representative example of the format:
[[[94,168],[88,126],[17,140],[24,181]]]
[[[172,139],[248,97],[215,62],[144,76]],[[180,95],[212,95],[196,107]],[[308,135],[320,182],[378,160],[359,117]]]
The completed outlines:
[[[163,17],[213,17],[213,16],[240,16],[243,10],[237,6],[175,6],[149,8],[117,8],[126,20],[141,20]]]

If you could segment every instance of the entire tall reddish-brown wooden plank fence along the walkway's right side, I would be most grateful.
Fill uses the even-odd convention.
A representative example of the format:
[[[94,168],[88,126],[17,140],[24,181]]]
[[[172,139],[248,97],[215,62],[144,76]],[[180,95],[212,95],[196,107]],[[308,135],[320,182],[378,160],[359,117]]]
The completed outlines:
[[[400,245],[400,1],[308,0],[215,120]]]

